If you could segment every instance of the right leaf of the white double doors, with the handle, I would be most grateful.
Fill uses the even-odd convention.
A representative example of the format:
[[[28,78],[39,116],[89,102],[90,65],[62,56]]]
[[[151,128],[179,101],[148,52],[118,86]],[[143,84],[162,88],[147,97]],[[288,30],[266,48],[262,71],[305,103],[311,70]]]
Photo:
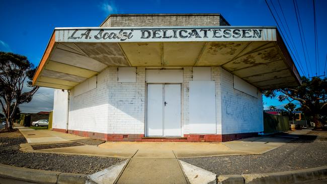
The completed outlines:
[[[181,84],[165,84],[164,136],[181,136]]]

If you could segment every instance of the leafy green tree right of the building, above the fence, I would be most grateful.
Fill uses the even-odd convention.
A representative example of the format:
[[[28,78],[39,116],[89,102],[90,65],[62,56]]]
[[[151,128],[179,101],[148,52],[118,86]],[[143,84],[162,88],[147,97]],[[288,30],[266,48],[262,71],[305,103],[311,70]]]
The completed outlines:
[[[321,128],[327,113],[327,78],[301,77],[302,85],[293,88],[266,90],[266,97],[276,97],[280,102],[298,101],[305,116],[312,116],[316,128]]]

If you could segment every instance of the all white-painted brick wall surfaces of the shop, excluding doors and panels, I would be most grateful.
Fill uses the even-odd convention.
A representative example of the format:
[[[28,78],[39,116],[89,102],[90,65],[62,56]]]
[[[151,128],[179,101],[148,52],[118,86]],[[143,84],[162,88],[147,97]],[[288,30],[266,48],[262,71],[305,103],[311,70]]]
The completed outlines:
[[[109,134],[144,134],[145,68],[137,67],[136,82],[118,82],[117,67],[108,67],[98,75],[97,87],[74,97],[70,90],[69,130]],[[189,133],[189,81],[192,68],[183,69],[183,134]],[[233,89],[232,74],[221,67],[211,68],[216,84],[217,134],[263,131],[262,95],[251,97]],[[58,90],[61,91],[61,90]],[[56,93],[56,92],[55,92]],[[65,129],[58,108],[63,102],[55,94],[53,128]]]

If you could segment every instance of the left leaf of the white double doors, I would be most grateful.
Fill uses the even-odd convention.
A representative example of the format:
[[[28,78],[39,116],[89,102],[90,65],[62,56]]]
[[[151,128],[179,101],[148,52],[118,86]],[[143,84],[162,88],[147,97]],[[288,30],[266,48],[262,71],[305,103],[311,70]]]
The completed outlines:
[[[147,135],[163,136],[163,84],[147,85]]]

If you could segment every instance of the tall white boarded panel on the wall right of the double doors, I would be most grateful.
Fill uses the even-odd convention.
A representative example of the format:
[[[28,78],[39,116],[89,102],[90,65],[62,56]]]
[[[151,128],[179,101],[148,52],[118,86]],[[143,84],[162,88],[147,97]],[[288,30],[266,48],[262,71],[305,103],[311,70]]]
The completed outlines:
[[[216,134],[215,81],[190,81],[190,133]]]

